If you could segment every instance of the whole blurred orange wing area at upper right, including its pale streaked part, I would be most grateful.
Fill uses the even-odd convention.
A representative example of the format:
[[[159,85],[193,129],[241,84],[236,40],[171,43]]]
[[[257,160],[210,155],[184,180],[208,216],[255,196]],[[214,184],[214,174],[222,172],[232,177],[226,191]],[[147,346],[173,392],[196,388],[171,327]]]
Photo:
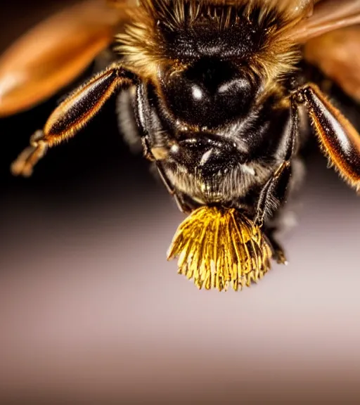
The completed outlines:
[[[289,32],[304,58],[360,100],[360,0],[316,1],[314,12]]]

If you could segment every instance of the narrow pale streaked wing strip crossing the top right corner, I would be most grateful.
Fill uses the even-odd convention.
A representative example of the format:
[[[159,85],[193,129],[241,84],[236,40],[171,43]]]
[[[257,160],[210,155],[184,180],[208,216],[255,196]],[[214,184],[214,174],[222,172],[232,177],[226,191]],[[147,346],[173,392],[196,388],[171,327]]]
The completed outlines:
[[[288,37],[298,44],[360,23],[360,0],[320,0],[314,4],[314,13],[288,32]]]

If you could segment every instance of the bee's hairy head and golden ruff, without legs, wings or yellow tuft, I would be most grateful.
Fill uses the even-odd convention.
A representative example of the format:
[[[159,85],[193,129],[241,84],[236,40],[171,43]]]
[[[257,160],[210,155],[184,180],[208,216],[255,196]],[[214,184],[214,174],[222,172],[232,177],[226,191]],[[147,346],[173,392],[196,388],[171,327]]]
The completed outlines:
[[[125,66],[145,78],[138,110],[148,148],[177,191],[232,205],[279,164],[281,79],[297,61],[281,32],[297,16],[285,0],[140,4],[119,39]]]

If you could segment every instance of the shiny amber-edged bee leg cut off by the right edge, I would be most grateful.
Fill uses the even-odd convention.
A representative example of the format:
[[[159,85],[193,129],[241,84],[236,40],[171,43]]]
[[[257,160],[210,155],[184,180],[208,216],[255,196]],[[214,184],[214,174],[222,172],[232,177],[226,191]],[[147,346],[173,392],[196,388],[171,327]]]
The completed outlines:
[[[316,84],[297,90],[297,103],[307,108],[321,148],[347,183],[360,192],[360,135]]]

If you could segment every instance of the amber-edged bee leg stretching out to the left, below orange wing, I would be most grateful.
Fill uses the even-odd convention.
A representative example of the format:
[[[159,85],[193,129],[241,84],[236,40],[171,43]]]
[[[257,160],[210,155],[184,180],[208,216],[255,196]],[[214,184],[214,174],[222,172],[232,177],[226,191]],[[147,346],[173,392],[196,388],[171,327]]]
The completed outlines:
[[[80,86],[58,105],[44,129],[34,133],[30,146],[11,165],[13,174],[30,176],[34,165],[48,148],[75,136],[117,89],[131,85],[135,79],[134,74],[125,71],[120,65],[112,65]]]

